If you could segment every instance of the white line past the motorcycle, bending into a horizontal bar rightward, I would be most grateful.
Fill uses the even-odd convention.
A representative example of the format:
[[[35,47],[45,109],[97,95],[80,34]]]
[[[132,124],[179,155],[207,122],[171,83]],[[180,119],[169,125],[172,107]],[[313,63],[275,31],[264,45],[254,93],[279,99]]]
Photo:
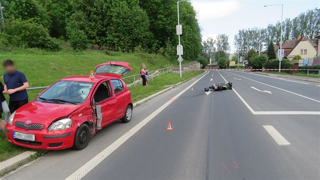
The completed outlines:
[[[220,74],[220,72],[218,71]],[[227,83],[228,81],[220,74],[220,76]],[[299,115],[299,114],[308,114],[308,115],[320,115],[320,111],[254,111],[249,104],[239,95],[239,93],[233,88],[233,92],[239,97],[243,104],[249,109],[249,111],[254,115]]]

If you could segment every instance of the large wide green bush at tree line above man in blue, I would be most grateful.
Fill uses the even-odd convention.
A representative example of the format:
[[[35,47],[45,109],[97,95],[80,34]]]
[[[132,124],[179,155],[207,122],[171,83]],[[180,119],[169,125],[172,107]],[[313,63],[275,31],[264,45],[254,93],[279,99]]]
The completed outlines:
[[[7,41],[15,47],[40,48],[52,51],[61,49],[56,39],[49,36],[48,29],[33,19],[9,20],[5,26]]]

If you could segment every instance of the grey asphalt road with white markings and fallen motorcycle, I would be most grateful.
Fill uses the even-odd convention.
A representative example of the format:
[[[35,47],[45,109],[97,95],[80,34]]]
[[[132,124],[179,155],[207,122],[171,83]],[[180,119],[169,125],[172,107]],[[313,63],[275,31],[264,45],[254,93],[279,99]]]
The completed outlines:
[[[233,91],[204,92],[225,80]],[[210,71],[134,109],[129,124],[106,127],[82,151],[51,151],[5,179],[320,179],[319,85]]]

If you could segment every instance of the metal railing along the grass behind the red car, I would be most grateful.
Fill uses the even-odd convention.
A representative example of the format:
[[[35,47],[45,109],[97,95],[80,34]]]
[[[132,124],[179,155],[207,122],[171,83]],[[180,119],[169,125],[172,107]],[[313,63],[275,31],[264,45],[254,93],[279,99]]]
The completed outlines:
[[[163,69],[150,71],[149,72],[149,79],[151,79],[151,81],[153,81],[154,77],[168,74],[169,72],[172,72],[172,70],[173,70],[172,67],[167,67],[167,68],[163,68]],[[125,80],[125,83],[128,87],[132,86],[132,85],[136,86],[136,84],[142,82],[141,81],[141,74],[134,74],[131,76],[126,76],[126,77],[123,77],[122,79]],[[29,88],[27,88],[27,90],[45,89],[47,87],[49,87],[49,86],[29,87]]]

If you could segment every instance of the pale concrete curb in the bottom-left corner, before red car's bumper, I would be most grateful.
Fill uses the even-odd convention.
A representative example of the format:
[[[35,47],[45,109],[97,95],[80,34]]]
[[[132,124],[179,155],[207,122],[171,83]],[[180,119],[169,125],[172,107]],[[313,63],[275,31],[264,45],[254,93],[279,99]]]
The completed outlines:
[[[35,151],[26,151],[24,153],[21,153],[13,158],[10,158],[4,162],[0,163],[0,173],[4,174],[9,171],[12,171],[19,167],[21,164],[26,163],[31,159],[31,156],[36,155],[37,152]]]

